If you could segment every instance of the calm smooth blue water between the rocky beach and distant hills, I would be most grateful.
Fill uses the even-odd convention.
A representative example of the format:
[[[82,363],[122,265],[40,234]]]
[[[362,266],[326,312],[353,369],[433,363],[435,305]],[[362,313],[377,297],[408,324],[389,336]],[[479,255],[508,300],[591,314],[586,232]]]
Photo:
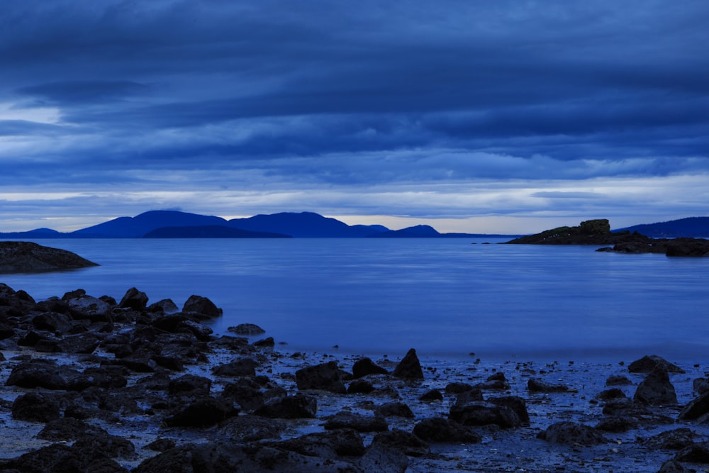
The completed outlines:
[[[41,240],[101,264],[0,276],[35,299],[191,294],[291,350],[706,362],[709,258],[467,239]]]

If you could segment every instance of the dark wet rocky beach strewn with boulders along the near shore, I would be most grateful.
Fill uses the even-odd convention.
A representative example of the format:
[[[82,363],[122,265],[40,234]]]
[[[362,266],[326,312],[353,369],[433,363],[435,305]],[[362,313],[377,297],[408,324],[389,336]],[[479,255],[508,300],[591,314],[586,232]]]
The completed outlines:
[[[254,321],[214,335],[204,297],[148,302],[0,284],[0,471],[708,468],[702,360],[291,352]]]

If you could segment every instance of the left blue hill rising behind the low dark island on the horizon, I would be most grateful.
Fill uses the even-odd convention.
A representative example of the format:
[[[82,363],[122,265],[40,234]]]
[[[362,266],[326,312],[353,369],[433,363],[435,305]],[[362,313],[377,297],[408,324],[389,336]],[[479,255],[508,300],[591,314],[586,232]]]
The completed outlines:
[[[150,211],[135,217],[119,217],[69,233],[72,238],[140,238],[162,227],[223,226],[220,217],[198,215],[178,211]]]

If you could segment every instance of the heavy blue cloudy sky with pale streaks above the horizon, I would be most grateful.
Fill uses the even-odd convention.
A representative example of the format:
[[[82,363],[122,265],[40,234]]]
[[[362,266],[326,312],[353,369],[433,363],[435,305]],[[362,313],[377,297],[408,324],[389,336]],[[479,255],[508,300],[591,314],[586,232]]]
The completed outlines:
[[[3,0],[0,231],[709,215],[704,0]]]

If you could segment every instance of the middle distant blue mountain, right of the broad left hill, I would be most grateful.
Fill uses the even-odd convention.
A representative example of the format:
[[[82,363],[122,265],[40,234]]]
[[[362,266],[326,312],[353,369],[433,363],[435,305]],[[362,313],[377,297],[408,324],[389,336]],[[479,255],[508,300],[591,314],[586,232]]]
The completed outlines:
[[[233,218],[229,226],[242,230],[285,233],[296,238],[359,238],[389,231],[381,225],[349,226],[335,218],[323,217],[319,213],[272,213],[249,218]]]

